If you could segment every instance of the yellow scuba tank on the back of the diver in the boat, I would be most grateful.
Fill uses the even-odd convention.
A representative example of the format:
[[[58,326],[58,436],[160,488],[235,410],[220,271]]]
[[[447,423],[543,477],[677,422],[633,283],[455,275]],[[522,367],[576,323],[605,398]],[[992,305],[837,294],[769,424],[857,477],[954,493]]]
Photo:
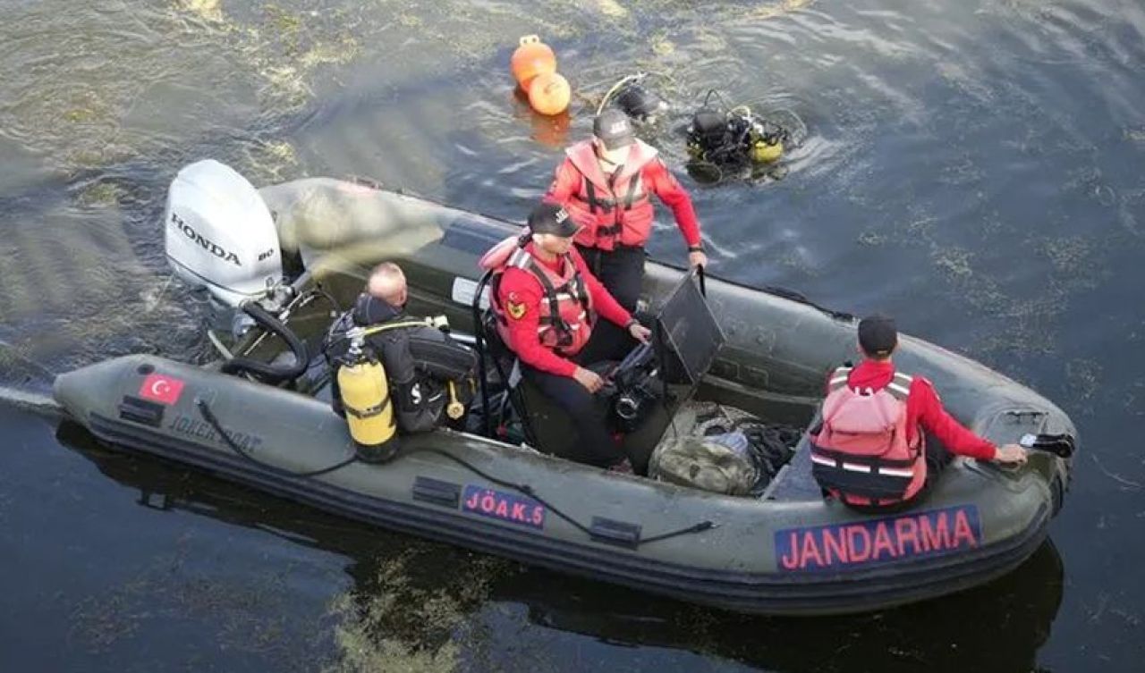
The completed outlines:
[[[362,351],[362,336],[350,341],[352,363],[338,369],[338,388],[350,436],[363,449],[377,449],[397,433],[386,369]]]

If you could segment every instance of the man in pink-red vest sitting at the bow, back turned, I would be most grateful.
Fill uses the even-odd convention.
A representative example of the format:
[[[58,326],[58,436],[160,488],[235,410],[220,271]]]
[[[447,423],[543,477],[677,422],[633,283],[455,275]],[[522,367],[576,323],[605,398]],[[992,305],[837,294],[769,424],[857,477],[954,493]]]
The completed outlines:
[[[995,446],[958,423],[942,409],[930,381],[895,371],[891,355],[898,343],[894,320],[863,318],[862,362],[831,373],[822,425],[811,436],[813,474],[828,493],[861,510],[902,509],[917,502],[950,458],[940,446],[927,444],[923,430],[960,456],[1026,461],[1021,446]]]

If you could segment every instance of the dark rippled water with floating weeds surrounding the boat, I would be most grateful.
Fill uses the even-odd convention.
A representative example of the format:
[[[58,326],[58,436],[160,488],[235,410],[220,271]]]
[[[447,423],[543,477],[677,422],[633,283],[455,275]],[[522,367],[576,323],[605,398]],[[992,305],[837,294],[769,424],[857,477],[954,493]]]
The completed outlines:
[[[1145,7],[1139,0],[15,1],[0,22],[0,671],[1139,671]],[[572,116],[507,62],[556,49]],[[182,165],[370,175],[520,219],[634,68],[712,271],[795,287],[1059,403],[1083,453],[1019,570],[949,599],[765,619],[389,535],[95,445],[49,374],[203,355],[158,217]],[[718,86],[810,135],[700,188],[671,121]],[[670,230],[653,244],[682,259]]]

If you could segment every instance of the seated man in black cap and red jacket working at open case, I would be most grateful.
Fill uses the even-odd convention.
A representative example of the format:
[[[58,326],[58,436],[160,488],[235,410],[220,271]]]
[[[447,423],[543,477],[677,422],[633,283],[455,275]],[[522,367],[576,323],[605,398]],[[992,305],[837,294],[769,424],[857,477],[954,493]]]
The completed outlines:
[[[521,361],[522,374],[572,417],[581,436],[564,458],[631,472],[594,398],[605,381],[581,363],[619,359],[629,345],[599,336],[598,316],[640,341],[650,332],[589,271],[572,247],[579,225],[564,208],[540,204],[528,228],[526,237],[503,242],[481,261],[499,269],[492,301],[497,331]]]

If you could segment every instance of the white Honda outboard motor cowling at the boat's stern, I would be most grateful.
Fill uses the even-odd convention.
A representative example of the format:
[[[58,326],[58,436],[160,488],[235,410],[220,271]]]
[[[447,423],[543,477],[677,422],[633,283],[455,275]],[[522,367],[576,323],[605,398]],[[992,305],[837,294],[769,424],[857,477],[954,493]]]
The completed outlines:
[[[283,277],[278,231],[262,197],[213,159],[171,182],[164,214],[167,260],[195,287],[228,307],[263,294]]]

